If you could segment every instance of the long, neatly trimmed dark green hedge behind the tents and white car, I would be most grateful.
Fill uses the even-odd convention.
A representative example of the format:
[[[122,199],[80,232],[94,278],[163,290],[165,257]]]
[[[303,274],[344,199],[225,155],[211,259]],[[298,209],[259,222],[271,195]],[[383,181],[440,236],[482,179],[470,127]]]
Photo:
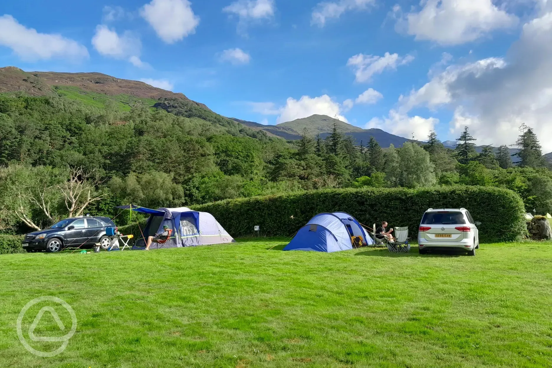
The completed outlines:
[[[429,189],[327,189],[302,193],[224,200],[192,208],[210,212],[235,237],[250,236],[261,226],[264,236],[291,236],[320,212],[347,212],[371,227],[386,220],[390,226],[408,226],[416,237],[428,208],[461,208],[471,212],[480,240],[515,241],[526,231],[524,206],[511,190],[454,186]]]

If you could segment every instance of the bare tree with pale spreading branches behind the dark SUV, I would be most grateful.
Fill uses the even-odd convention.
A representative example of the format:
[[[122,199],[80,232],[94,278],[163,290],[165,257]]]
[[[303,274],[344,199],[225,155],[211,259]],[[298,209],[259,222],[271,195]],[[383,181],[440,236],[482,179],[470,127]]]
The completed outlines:
[[[84,174],[82,167],[73,168],[70,179],[57,186],[65,197],[69,217],[81,216],[89,204],[104,198],[104,194],[96,190],[101,182],[96,173],[93,174],[94,177],[89,178]]]

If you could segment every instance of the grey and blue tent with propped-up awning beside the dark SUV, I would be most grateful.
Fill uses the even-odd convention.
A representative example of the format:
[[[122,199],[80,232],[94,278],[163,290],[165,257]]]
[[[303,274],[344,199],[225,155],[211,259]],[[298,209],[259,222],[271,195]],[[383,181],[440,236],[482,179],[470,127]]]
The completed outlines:
[[[152,210],[129,205],[117,208],[150,215],[146,227],[140,229],[141,236],[132,249],[144,249],[147,237],[162,232],[164,225],[172,229],[171,238],[164,244],[152,243],[150,249],[194,247],[235,242],[230,234],[215,220],[215,217],[207,212],[192,211],[188,207]]]

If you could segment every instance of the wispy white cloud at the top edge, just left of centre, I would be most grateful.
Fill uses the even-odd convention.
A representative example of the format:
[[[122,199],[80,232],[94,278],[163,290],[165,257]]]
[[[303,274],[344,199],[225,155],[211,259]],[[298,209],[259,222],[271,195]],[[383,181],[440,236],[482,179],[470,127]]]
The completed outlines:
[[[237,15],[237,32],[247,35],[247,26],[251,22],[260,22],[263,19],[272,19],[275,12],[274,0],[238,0],[222,9],[230,15]]]

